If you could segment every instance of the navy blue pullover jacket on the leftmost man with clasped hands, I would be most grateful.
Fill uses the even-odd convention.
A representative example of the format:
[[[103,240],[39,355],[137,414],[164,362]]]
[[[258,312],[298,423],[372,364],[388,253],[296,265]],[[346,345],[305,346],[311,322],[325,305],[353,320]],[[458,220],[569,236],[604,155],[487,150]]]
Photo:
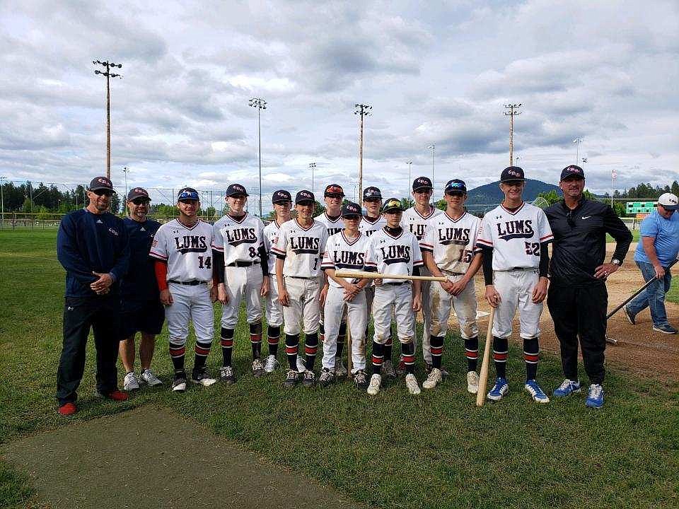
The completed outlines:
[[[112,274],[110,291],[117,293],[129,264],[122,219],[110,212],[95,214],[87,209],[67,214],[57,233],[57,258],[66,269],[66,297],[96,297],[90,284],[98,277],[92,272]]]

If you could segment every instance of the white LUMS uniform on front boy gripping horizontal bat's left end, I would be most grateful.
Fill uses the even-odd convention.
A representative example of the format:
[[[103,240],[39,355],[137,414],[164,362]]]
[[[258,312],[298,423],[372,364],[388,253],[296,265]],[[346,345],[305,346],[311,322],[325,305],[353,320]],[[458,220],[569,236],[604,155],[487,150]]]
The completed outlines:
[[[335,233],[328,238],[323,253],[322,269],[341,269],[342,271],[362,271],[365,269],[368,238],[359,232],[359,236],[348,239],[344,232]],[[349,279],[347,278],[347,281]],[[344,288],[336,281],[328,278],[325,298],[325,341],[323,342],[323,367],[335,369],[337,353],[337,336],[340,322],[346,306],[349,316],[349,327],[352,334],[352,373],[366,368],[365,340],[368,308],[366,291],[361,290],[353,300],[344,301]]]

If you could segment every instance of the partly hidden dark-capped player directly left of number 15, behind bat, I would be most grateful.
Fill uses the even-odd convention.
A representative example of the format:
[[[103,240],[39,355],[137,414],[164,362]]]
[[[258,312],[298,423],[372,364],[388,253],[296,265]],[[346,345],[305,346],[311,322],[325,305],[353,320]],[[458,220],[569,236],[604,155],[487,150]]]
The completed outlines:
[[[428,177],[417,177],[412,181],[412,197],[415,204],[403,213],[401,227],[405,230],[410,230],[410,233],[415,235],[418,241],[424,238],[429,220],[443,213],[443,211],[429,204],[433,191],[434,187],[432,187],[431,180]],[[431,276],[426,267],[422,267],[420,274],[422,276]],[[431,347],[429,346],[429,318],[431,317],[429,305],[430,286],[431,283],[429,281],[422,281],[422,356],[426,363],[427,372],[431,371]],[[414,345],[417,350],[417,335],[414,339]],[[403,366],[401,361],[397,373],[402,373],[402,371]]]

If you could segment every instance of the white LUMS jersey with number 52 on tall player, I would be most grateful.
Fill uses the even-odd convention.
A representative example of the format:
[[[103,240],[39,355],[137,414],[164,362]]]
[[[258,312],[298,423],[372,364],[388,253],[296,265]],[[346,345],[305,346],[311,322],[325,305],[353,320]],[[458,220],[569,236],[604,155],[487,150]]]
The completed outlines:
[[[540,242],[554,238],[545,212],[523,203],[510,212],[498,205],[483,217],[477,245],[492,247],[493,270],[537,269],[540,266]]]

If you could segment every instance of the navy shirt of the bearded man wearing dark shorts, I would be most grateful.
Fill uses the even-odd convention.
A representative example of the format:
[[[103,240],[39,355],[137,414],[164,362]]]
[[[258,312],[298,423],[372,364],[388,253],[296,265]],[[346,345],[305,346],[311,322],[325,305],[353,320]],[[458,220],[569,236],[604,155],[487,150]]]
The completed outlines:
[[[151,219],[139,223],[129,217],[124,218],[122,222],[129,240],[129,269],[120,283],[120,296],[123,301],[158,300],[160,292],[156,282],[156,273],[153,271],[155,259],[149,256],[149,251],[153,235],[156,235],[161,223]]]

